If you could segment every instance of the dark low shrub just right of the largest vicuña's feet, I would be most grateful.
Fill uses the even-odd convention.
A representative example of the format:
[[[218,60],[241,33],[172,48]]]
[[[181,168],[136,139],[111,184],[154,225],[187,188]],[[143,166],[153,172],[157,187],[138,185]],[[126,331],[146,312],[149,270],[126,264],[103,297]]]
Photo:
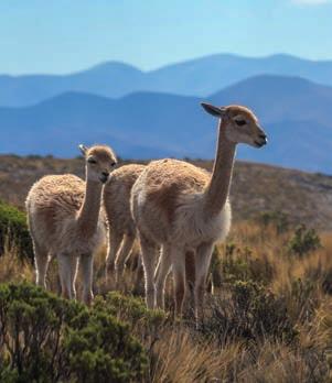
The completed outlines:
[[[288,315],[283,297],[253,281],[231,285],[227,298],[211,302],[205,332],[219,339],[260,341],[265,338],[291,342],[297,330]]]

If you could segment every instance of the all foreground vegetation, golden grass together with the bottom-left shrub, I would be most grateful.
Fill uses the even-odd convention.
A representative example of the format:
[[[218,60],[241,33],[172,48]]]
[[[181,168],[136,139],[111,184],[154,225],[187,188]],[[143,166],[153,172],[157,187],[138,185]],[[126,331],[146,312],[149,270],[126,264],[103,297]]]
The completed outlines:
[[[115,292],[104,277],[104,252],[95,260],[90,309],[31,285],[33,266],[22,264],[18,253],[6,249],[0,258],[1,382],[332,379],[329,234],[291,225],[280,231],[279,218],[235,225],[227,243],[214,251],[214,294],[207,294],[199,330],[191,307],[175,321],[168,313],[147,310],[143,280],[135,288],[132,267],[122,293]],[[54,293],[56,271],[53,261],[47,286]],[[172,311],[171,278],[167,306]]]

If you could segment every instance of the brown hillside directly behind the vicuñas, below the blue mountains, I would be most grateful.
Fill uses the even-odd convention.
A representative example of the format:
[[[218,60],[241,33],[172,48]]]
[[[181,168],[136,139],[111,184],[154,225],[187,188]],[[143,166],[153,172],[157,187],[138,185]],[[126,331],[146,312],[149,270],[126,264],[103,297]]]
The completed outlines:
[[[194,162],[211,169],[211,162]],[[45,174],[84,176],[82,158],[0,156],[0,199],[24,208],[31,185]],[[263,211],[283,211],[292,222],[332,229],[332,177],[261,164],[237,162],[232,186],[235,221]]]

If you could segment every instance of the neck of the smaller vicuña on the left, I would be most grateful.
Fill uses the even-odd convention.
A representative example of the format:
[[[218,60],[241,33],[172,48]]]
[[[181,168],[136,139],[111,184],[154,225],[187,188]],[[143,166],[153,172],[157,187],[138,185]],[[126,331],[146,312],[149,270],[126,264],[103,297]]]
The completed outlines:
[[[89,238],[96,232],[100,211],[101,190],[103,184],[100,182],[90,180],[86,176],[84,201],[77,215],[78,230],[85,238]]]

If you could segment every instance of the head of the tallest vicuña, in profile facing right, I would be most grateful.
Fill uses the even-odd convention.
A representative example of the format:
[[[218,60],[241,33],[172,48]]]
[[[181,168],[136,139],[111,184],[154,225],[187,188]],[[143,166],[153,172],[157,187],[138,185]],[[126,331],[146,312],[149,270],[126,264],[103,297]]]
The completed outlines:
[[[261,147],[267,143],[267,136],[257,117],[248,108],[237,105],[215,107],[206,102],[202,102],[202,107],[207,113],[225,122],[225,136],[231,142],[246,143],[255,147]]]

